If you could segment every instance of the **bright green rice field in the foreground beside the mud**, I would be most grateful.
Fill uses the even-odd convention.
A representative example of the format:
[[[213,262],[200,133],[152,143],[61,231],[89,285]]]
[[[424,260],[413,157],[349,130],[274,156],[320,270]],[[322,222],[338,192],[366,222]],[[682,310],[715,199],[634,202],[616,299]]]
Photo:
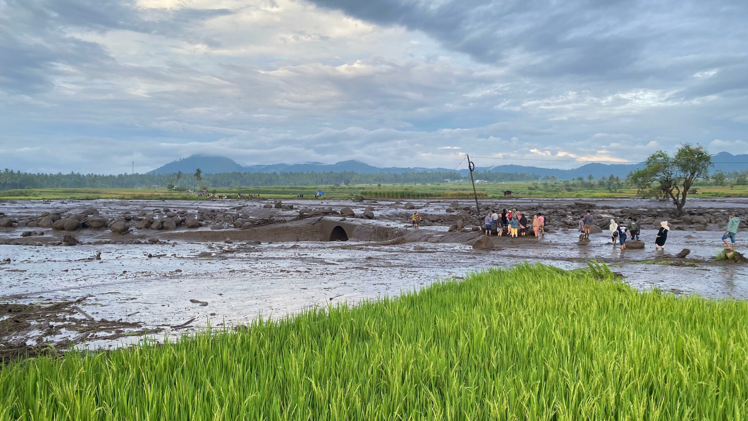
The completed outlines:
[[[520,265],[0,369],[0,420],[743,420],[748,303]]]

